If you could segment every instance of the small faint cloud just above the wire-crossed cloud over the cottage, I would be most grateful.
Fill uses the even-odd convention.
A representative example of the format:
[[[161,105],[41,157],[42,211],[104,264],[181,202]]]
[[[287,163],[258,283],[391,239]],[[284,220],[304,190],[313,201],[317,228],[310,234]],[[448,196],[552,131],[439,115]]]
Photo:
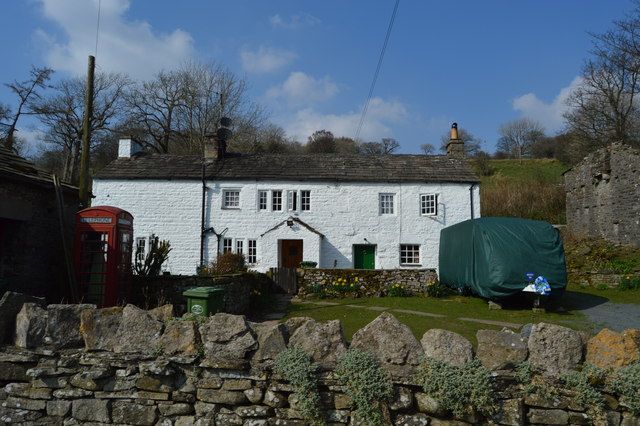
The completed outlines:
[[[277,86],[267,90],[267,98],[285,101],[289,106],[311,105],[334,97],[340,89],[329,76],[314,78],[300,71],[292,72]]]

